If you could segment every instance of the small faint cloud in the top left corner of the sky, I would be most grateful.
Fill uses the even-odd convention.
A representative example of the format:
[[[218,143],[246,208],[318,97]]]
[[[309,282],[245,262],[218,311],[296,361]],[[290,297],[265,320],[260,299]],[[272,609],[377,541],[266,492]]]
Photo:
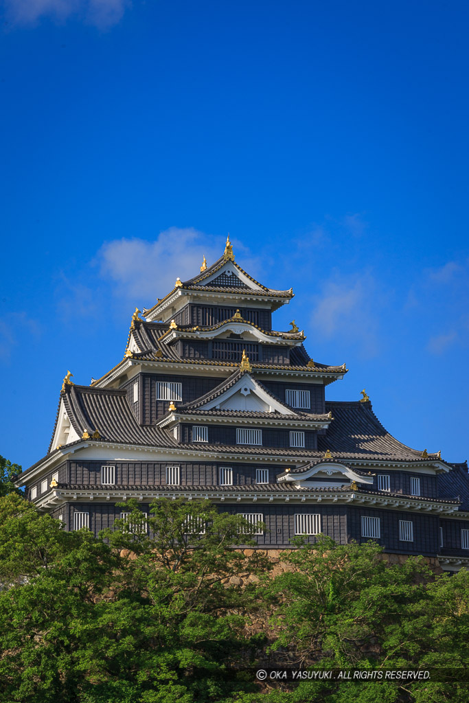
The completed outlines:
[[[4,0],[15,24],[31,25],[42,17],[58,22],[77,18],[100,29],[117,24],[128,4],[128,0]]]

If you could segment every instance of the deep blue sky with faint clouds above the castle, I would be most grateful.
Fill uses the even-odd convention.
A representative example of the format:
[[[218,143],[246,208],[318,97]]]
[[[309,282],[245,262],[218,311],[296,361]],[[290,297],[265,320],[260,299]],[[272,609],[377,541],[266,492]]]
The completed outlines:
[[[468,456],[465,2],[1,4],[0,453],[231,233],[392,434]]]

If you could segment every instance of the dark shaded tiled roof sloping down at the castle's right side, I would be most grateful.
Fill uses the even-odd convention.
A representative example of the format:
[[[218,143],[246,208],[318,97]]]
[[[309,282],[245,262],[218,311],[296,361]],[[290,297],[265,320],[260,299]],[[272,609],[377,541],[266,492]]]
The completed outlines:
[[[335,422],[318,437],[319,451],[329,450],[334,458],[358,454],[363,458],[425,460],[422,450],[411,449],[385,430],[370,401],[326,401],[326,411],[332,412]],[[429,454],[428,459],[439,457]]]

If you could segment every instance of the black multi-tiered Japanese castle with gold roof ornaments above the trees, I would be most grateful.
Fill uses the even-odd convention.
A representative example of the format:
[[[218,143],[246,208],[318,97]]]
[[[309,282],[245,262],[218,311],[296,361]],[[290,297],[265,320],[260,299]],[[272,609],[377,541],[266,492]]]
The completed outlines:
[[[467,463],[401,444],[364,391],[328,401],[347,368],[313,361],[294,322],[273,329],[292,298],[243,271],[227,240],[212,266],[204,257],[136,309],[108,373],[90,386],[67,374],[49,452],[17,485],[68,530],[112,527],[126,498],[143,512],[156,497],[209,498],[265,522],[259,547],[322,532],[469,565]]]

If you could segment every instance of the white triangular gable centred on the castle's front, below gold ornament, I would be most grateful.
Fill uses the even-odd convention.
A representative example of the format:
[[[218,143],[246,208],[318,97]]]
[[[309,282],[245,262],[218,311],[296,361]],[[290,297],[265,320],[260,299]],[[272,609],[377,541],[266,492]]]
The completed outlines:
[[[260,387],[252,376],[244,374],[236,383],[221,396],[208,401],[200,410],[253,410],[262,413],[281,413],[291,415],[279,401],[270,396]]]

